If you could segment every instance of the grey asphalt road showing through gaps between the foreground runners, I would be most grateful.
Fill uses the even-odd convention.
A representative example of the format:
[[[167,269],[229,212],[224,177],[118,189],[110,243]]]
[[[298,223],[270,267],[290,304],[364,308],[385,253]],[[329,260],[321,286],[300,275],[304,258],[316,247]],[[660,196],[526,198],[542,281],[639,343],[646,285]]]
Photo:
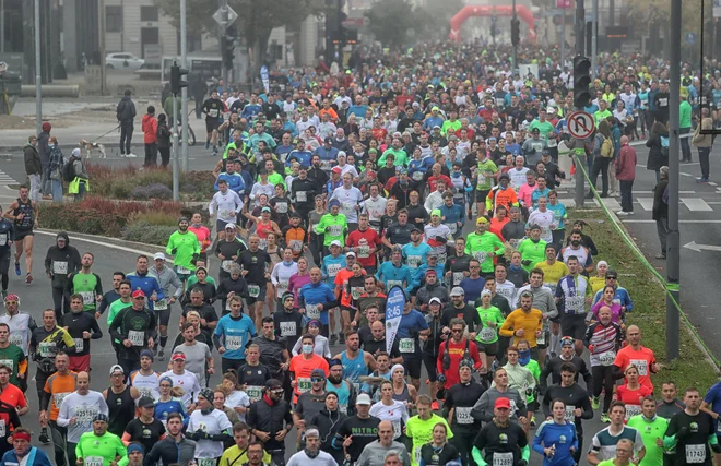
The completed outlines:
[[[108,288],[111,286],[110,277],[115,271],[125,271],[131,272],[134,270],[135,256],[140,252],[154,253],[159,251],[159,248],[146,248],[143,251],[137,251],[133,244],[123,243],[120,241],[113,241],[109,243],[104,243],[104,241],[98,241],[97,238],[90,240],[82,240],[79,236],[71,235],[71,244],[79,249],[81,254],[83,252],[92,252],[95,254],[95,264],[93,265],[93,272],[98,274],[103,279],[104,286]],[[43,274],[44,266],[43,262],[45,260],[45,254],[50,246],[55,243],[55,234],[45,234],[38,231],[35,236],[35,266],[34,266],[34,277],[35,280],[32,285],[25,285],[24,274],[25,267],[23,263],[23,279],[16,277],[14,274],[11,276],[10,282],[10,291],[15,292],[20,296],[21,310],[27,312],[35,318],[37,322],[42,322],[40,315],[44,309],[52,307],[52,298],[50,294],[50,283],[49,279]],[[216,264],[211,265],[211,271],[215,270]],[[12,271],[11,271],[12,273]],[[216,273],[211,275],[216,277]],[[178,313],[174,312],[170,318],[169,336],[170,342],[174,340],[177,335],[178,328]],[[93,377],[91,380],[91,389],[96,391],[102,391],[109,386],[108,371],[109,368],[115,363],[115,353],[110,347],[109,337],[107,336],[107,324],[105,320],[99,323],[101,328],[104,332],[103,338],[98,340],[93,340],[92,349],[92,368]],[[340,353],[344,348],[341,346],[334,346],[331,353]],[[215,354],[216,367],[220,367],[220,358]],[[165,371],[167,365],[166,361],[155,361],[154,368],[156,371]],[[34,366],[34,365],[32,365]],[[35,368],[32,368],[32,372],[35,372]],[[426,375],[424,373],[422,380],[425,380]],[[215,374],[211,378],[211,385],[215,385],[220,382],[220,374]],[[34,382],[32,382],[34,384]],[[427,393],[427,386],[422,386],[422,392]],[[35,435],[39,433],[39,422],[38,422],[38,401],[37,395],[34,390],[34,386],[31,385],[31,390],[27,391],[28,402],[31,405],[31,410],[27,415],[22,418],[23,425],[28,427]],[[539,416],[539,422],[541,421],[541,416]],[[583,428],[586,431],[586,444],[588,446],[591,437],[601,430],[605,425],[602,425],[596,418],[583,422]],[[286,451],[288,452],[287,456],[289,457],[292,453],[295,452],[295,431],[288,435],[286,441]],[[35,444],[38,444],[37,440],[34,441]],[[39,446],[39,444],[38,444]],[[52,454],[50,447],[44,447],[48,454]],[[52,456],[50,456],[52,457]],[[534,466],[540,466],[542,464],[542,458],[537,454],[532,454],[531,464]],[[584,461],[582,463],[586,463]]]

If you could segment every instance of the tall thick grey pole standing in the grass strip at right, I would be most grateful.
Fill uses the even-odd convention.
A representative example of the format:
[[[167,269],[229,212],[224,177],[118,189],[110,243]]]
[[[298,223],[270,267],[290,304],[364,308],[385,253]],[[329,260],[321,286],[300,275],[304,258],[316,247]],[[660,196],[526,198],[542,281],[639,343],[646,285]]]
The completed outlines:
[[[679,316],[672,300],[678,302],[681,278],[681,234],[678,231],[678,152],[681,104],[681,12],[682,0],[671,0],[671,71],[669,101],[669,236],[666,239],[666,358],[669,362],[678,359]]]

